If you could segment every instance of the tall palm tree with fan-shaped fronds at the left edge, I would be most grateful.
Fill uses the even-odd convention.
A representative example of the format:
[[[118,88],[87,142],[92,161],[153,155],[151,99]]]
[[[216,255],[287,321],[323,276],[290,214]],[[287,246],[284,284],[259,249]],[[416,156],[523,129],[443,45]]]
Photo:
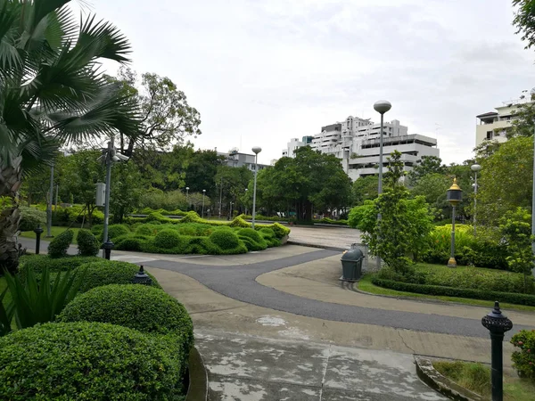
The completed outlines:
[[[100,61],[128,61],[119,30],[70,0],[0,0],[0,268],[18,266],[18,190],[25,173],[52,163],[62,143],[136,135],[132,97],[103,78]]]

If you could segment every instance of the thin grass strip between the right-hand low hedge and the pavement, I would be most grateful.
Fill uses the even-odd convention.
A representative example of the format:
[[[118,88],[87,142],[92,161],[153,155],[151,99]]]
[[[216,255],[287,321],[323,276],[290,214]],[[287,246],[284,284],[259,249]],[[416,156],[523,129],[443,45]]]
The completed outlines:
[[[429,265],[432,266],[432,265]],[[457,267],[457,268],[463,268],[464,266]],[[478,267],[480,268],[480,267]],[[491,270],[491,269],[485,269],[485,270]],[[448,301],[448,302],[458,302],[461,304],[466,305],[473,305],[476,307],[494,307],[494,302],[487,301],[487,300],[481,300],[481,299],[467,299],[467,298],[457,298],[457,297],[444,297],[444,296],[436,296],[436,295],[427,295],[427,294],[416,294],[414,292],[405,292],[405,291],[395,291],[388,288],[378,287],[372,283],[372,274],[365,274],[359,281],[358,281],[358,290],[360,291],[366,291],[372,294],[377,295],[390,295],[391,297],[409,297],[409,298],[415,298],[415,299],[434,299],[434,300],[441,300],[441,301]],[[535,307],[529,307],[526,305],[514,305],[514,304],[507,304],[507,303],[501,303],[500,307],[503,309],[516,309],[516,310],[525,310],[530,312],[535,312]]]

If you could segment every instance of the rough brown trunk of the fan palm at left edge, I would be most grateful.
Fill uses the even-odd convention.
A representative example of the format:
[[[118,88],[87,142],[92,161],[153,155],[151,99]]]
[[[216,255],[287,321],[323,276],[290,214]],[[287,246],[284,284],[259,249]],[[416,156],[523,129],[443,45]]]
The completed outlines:
[[[12,206],[0,210],[0,273],[7,269],[14,272],[19,266],[17,235],[21,222],[19,210],[19,188],[22,184],[22,157],[12,159],[4,166],[0,162],[0,197],[12,200]]]

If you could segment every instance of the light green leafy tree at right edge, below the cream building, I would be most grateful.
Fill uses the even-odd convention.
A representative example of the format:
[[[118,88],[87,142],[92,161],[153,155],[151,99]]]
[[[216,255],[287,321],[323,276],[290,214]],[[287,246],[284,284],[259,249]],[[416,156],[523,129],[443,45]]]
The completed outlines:
[[[533,137],[517,136],[479,161],[478,220],[498,226],[498,219],[518,207],[531,209]],[[464,188],[463,188],[464,189]]]

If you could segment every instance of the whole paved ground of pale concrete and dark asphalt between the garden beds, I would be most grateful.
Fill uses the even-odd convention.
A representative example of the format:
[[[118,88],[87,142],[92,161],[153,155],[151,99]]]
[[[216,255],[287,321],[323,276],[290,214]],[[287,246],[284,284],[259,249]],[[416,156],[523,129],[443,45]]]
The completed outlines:
[[[24,242],[31,248],[34,241]],[[336,280],[340,252],[284,246],[231,257],[112,255],[143,264],[184,303],[211,400],[432,401],[442,398],[418,381],[413,355],[490,360],[486,310],[348,291]],[[535,314],[509,315],[514,331],[516,323],[535,327]],[[511,352],[506,343],[509,368]]]

